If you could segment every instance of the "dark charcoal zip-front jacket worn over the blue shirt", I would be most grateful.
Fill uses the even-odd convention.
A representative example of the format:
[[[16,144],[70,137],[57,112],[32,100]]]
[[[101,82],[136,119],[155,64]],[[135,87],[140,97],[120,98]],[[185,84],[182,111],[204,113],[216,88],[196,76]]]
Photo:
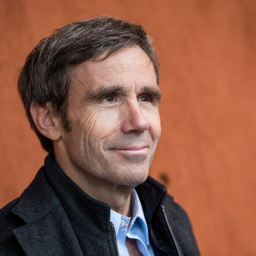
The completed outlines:
[[[155,256],[200,255],[188,217],[166,187],[148,177],[136,191]],[[114,256],[115,239],[109,205],[83,192],[50,155],[22,195],[0,210],[1,256]]]

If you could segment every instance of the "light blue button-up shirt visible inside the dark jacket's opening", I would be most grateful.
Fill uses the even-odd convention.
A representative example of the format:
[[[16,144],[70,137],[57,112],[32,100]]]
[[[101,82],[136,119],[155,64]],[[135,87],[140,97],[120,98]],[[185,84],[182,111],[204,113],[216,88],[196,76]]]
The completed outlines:
[[[129,256],[125,245],[126,237],[136,239],[139,251],[143,256],[154,256],[153,249],[149,243],[147,222],[135,189],[131,194],[131,212],[132,220],[116,211],[110,210],[110,221],[113,222],[116,230],[120,256]]]

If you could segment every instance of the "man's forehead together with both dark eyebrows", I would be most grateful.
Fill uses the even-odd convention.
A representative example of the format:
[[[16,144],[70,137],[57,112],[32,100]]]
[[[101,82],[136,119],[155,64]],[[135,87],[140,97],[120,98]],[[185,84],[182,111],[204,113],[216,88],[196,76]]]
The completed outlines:
[[[137,98],[150,94],[155,103],[161,98],[154,67],[139,47],[129,47],[105,60],[88,60],[74,67],[70,93],[83,102],[95,102],[109,94],[136,94]]]

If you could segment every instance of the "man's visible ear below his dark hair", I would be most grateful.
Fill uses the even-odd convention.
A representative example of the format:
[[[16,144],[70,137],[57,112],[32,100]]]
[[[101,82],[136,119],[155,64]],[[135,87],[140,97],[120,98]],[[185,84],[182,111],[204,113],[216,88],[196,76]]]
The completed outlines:
[[[59,124],[59,120],[54,117],[53,110],[49,102],[47,102],[44,107],[32,102],[30,105],[30,113],[38,131],[43,136],[51,140],[60,139],[61,126]]]

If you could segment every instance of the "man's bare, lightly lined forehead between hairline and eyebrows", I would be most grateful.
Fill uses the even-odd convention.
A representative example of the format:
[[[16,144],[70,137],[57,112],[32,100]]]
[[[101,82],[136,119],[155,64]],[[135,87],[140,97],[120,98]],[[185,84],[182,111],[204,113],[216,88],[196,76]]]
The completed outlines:
[[[71,73],[72,90],[97,90],[102,86],[157,86],[154,66],[147,54],[132,46],[112,53],[105,60],[87,60]]]

